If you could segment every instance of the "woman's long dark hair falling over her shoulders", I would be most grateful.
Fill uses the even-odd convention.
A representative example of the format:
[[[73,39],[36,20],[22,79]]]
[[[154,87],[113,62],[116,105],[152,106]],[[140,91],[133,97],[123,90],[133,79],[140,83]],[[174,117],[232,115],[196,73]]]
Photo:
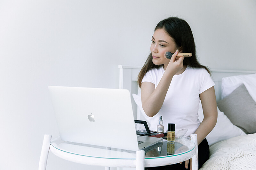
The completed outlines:
[[[190,26],[185,20],[178,17],[166,18],[156,25],[155,31],[162,28],[173,38],[177,48],[182,48],[182,53],[192,53],[191,57],[184,58],[183,65],[188,65],[192,68],[204,68],[210,73],[210,70],[206,66],[201,65],[197,61],[196,45],[193,33]],[[155,65],[152,62],[152,59],[153,57],[150,53],[144,66],[140,70],[140,73],[138,75],[138,85],[140,88],[141,81],[145,76],[146,72],[150,69],[159,67],[159,65]]]

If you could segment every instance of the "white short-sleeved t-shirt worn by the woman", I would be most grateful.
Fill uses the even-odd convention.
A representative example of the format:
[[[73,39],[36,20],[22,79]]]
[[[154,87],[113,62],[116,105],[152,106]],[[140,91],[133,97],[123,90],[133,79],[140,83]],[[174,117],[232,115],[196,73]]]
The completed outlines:
[[[151,82],[156,86],[164,74],[163,66],[149,70],[141,82]],[[214,85],[210,74],[204,68],[192,68],[174,75],[159,112],[150,118],[150,130],[156,130],[159,116],[163,117],[164,131],[168,123],[175,123],[175,132],[188,129],[184,137],[189,138],[200,125],[198,119],[199,94]]]

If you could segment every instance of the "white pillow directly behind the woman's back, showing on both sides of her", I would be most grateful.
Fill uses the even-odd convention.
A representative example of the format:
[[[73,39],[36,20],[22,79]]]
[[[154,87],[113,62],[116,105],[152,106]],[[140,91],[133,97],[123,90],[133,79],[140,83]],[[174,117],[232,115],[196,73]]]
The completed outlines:
[[[150,117],[148,117],[145,114],[145,112],[142,108],[140,94],[132,94],[132,97],[133,97],[135,103],[137,104],[137,107],[139,107],[140,112],[142,113],[142,115],[144,115],[144,117],[147,119],[147,122],[148,122],[150,120]],[[201,102],[199,104],[198,115],[199,115],[198,119],[200,120],[200,122],[202,122],[204,119],[204,114],[203,114],[203,108],[202,108]],[[226,115],[224,115],[224,113],[221,112],[220,109],[218,108],[217,123],[216,123],[215,127],[212,129],[212,131],[206,137],[208,144],[212,145],[219,141],[223,141],[223,140],[229,139],[231,137],[236,137],[236,136],[240,136],[240,135],[246,135],[246,134],[244,133],[244,131],[242,129],[233,125],[233,123],[230,122],[228,117]]]

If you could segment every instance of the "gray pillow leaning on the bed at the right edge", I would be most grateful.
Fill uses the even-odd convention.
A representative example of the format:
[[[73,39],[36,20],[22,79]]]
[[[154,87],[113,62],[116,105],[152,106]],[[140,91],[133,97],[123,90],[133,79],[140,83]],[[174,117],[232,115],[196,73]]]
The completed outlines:
[[[227,97],[217,102],[220,111],[245,133],[256,132],[256,102],[244,84],[237,87]]]

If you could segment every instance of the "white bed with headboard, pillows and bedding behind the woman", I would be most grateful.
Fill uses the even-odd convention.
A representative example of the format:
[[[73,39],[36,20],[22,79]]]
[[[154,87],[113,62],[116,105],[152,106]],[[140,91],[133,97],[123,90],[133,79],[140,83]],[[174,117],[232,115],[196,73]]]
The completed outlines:
[[[118,68],[119,88],[131,92],[134,119],[148,120],[141,108],[140,94],[137,95],[140,93],[137,76],[141,67],[119,65]],[[256,71],[211,71],[218,102],[218,121],[206,137],[210,158],[200,170],[256,169]],[[202,107],[198,114],[202,121]]]

